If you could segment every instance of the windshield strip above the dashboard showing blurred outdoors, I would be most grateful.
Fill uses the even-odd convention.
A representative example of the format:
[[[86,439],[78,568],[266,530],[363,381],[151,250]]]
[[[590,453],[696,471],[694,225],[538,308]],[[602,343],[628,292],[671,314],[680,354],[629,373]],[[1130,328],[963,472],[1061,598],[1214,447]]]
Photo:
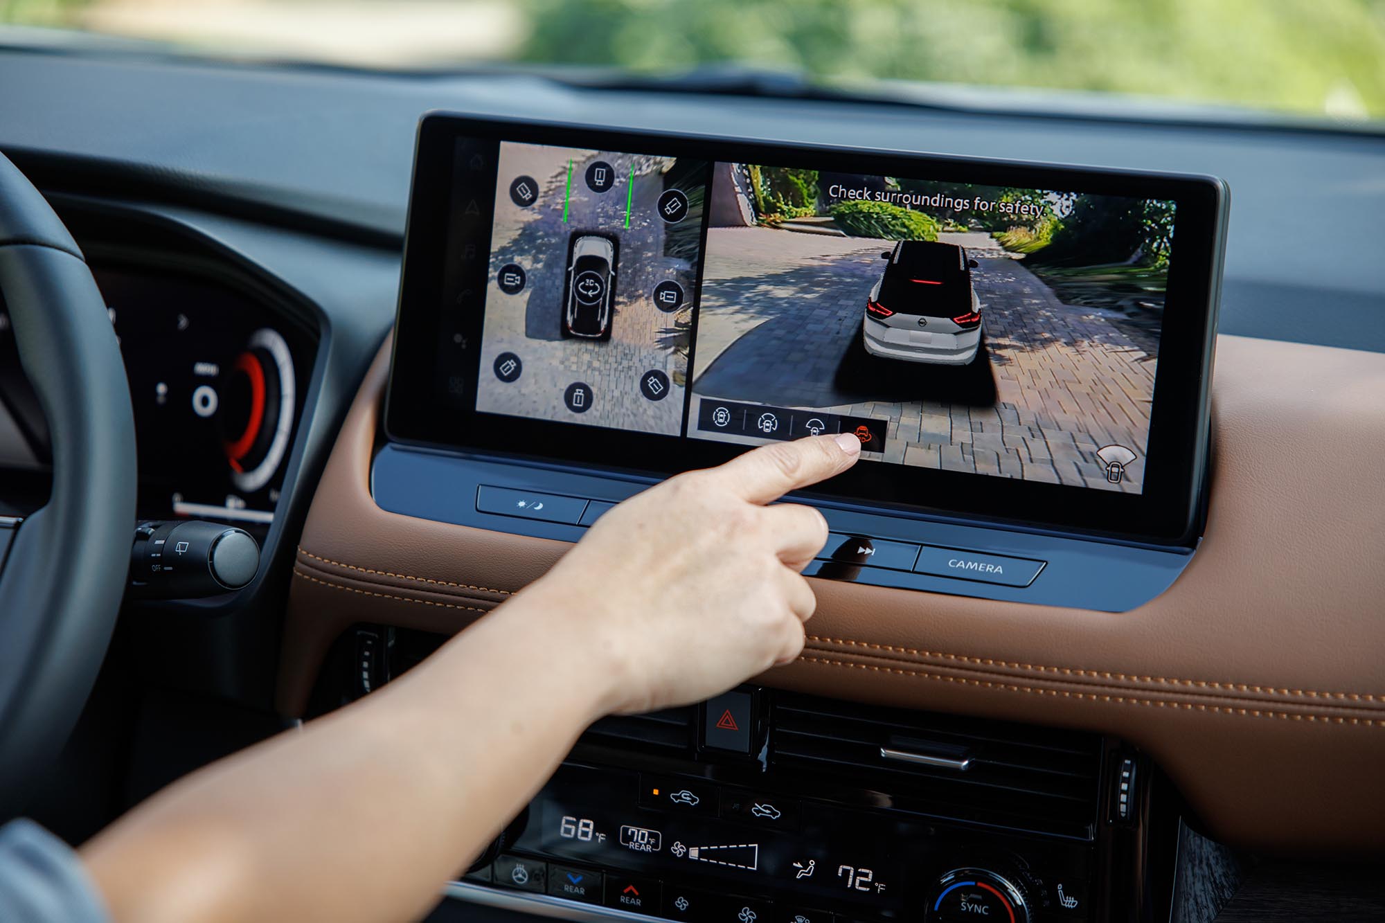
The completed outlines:
[[[734,67],[1385,115],[1382,0],[0,0],[0,22],[363,68]]]

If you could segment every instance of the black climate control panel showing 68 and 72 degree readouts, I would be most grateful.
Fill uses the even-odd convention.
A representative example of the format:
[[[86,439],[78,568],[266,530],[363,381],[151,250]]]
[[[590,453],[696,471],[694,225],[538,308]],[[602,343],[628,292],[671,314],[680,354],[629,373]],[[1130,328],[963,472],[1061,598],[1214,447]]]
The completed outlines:
[[[706,777],[568,764],[511,836],[468,884],[670,920],[1089,919],[1084,844]]]

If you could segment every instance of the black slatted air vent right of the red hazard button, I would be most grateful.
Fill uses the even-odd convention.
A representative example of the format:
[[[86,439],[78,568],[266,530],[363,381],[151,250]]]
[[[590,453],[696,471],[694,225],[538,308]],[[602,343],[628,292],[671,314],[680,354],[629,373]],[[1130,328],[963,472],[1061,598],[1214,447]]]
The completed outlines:
[[[776,768],[831,776],[904,809],[1093,836],[1101,769],[1094,735],[788,693],[774,697],[770,733]]]

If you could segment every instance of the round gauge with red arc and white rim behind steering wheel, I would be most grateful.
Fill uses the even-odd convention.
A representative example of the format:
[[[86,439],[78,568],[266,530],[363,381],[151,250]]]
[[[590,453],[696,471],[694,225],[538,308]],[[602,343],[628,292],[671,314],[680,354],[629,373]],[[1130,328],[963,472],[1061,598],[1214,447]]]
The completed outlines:
[[[294,430],[294,356],[284,338],[262,327],[235,356],[219,414],[231,484],[259,491],[278,470]]]

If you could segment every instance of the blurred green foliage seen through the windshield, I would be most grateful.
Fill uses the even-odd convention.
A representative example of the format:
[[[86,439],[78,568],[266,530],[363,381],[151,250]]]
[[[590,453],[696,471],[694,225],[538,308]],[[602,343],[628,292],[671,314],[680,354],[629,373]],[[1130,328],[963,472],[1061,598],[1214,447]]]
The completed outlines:
[[[1385,0],[525,0],[521,58],[1385,116]]]

